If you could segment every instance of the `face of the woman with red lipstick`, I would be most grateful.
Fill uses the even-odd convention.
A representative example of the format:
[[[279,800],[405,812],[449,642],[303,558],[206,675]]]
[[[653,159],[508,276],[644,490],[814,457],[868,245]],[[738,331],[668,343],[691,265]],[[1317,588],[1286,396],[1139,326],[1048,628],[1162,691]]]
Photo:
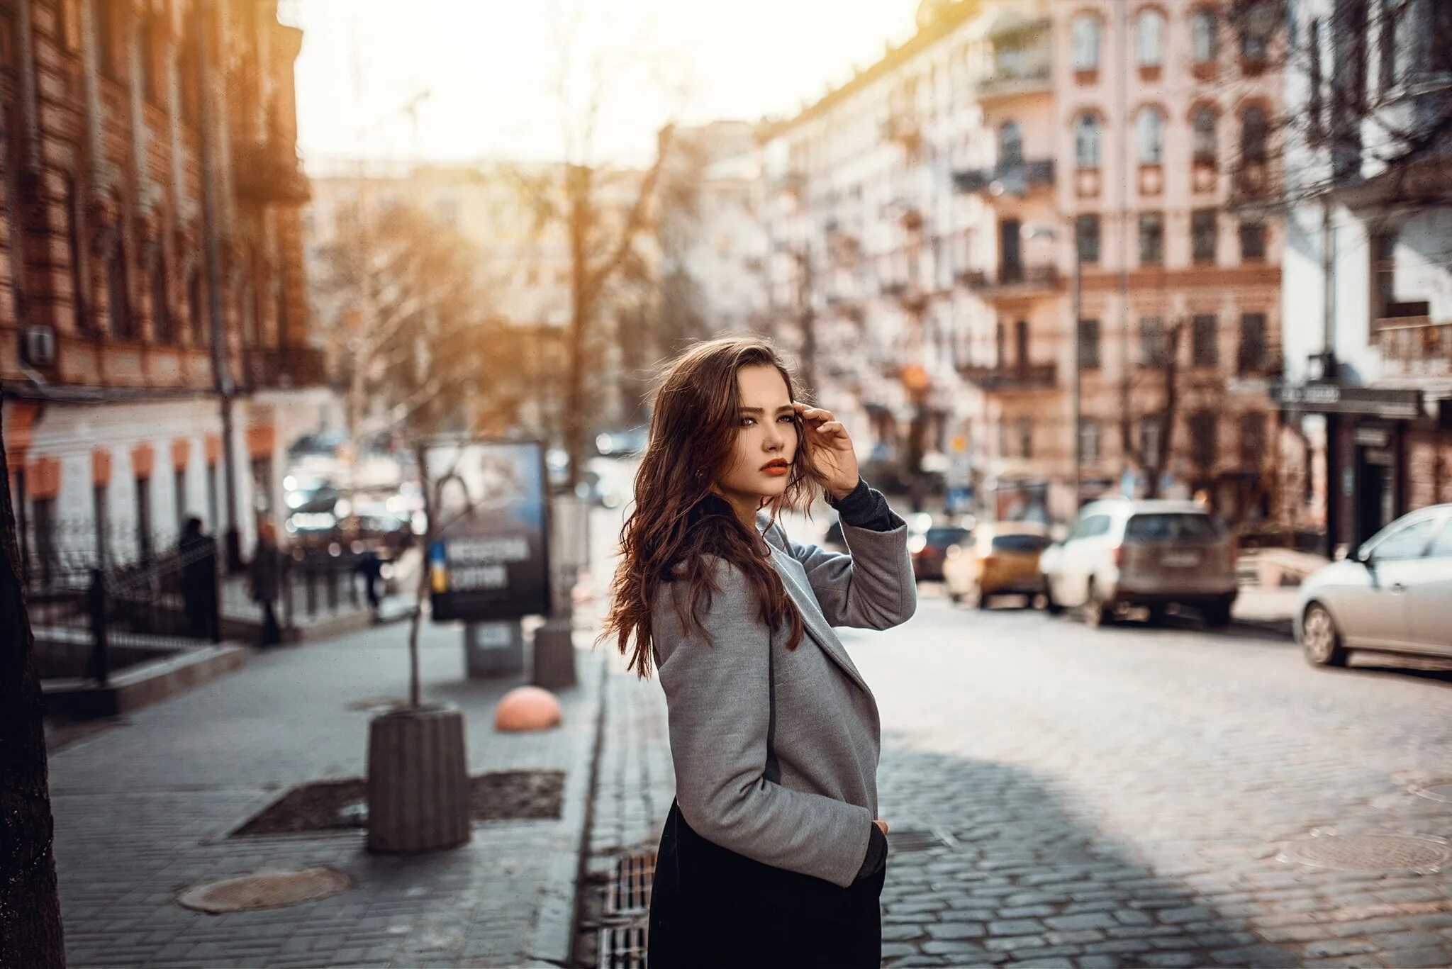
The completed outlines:
[[[797,456],[797,414],[777,368],[759,363],[736,372],[741,411],[730,466],[716,487],[727,500],[775,498],[787,490]]]

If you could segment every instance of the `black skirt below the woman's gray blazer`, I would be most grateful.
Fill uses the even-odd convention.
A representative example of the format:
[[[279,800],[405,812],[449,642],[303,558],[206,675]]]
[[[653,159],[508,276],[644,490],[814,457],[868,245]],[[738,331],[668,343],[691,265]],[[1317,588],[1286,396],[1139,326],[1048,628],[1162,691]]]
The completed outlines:
[[[877,969],[886,869],[839,888],[707,841],[672,802],[650,889],[650,969]]]

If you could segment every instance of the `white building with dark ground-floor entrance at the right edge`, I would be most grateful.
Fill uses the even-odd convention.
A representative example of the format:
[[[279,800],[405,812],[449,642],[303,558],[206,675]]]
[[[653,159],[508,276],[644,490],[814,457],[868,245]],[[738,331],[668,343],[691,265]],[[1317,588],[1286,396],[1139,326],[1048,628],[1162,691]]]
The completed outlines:
[[[1326,552],[1452,501],[1452,4],[1286,9],[1282,450]]]

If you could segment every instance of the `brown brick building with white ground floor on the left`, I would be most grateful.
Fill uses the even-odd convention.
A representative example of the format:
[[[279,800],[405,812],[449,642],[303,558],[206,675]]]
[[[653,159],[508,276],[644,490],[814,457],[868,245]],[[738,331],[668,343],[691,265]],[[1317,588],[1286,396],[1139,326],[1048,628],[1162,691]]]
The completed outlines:
[[[147,558],[190,514],[240,564],[330,407],[301,42],[273,1],[0,1],[0,381],[32,574]]]

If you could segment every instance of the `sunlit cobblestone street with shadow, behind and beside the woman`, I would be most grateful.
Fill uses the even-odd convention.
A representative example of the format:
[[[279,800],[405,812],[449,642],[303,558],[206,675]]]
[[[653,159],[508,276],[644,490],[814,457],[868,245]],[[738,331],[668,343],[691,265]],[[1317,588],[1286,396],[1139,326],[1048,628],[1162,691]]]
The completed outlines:
[[[923,588],[842,631],[883,713],[890,966],[1446,966],[1452,877],[1281,860],[1339,834],[1452,837],[1452,680],[1308,667],[1253,632],[1088,629]],[[669,806],[659,686],[605,687],[592,869]],[[1446,866],[1443,866],[1445,869]]]

